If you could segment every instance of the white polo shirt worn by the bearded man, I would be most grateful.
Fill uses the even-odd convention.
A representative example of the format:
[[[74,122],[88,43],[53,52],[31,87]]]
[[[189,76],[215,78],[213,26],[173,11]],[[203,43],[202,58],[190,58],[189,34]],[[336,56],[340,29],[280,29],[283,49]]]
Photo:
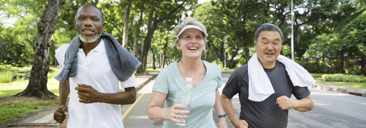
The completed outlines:
[[[64,56],[69,44],[56,49],[60,70],[64,67]],[[67,128],[123,128],[121,105],[109,103],[81,103],[75,87],[77,83],[92,86],[101,93],[118,93],[119,80],[113,73],[105,52],[104,41],[91,50],[87,56],[83,49],[78,51],[77,75],[70,80],[70,101],[68,105]],[[138,86],[135,74],[124,82],[122,88]]]

